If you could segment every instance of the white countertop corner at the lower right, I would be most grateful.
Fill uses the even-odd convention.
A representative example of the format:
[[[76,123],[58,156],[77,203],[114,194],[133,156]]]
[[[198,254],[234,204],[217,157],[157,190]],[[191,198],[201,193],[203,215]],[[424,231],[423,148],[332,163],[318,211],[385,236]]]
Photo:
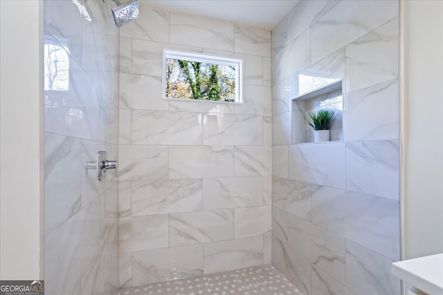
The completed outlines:
[[[443,294],[443,253],[392,263],[392,274],[430,295]]]

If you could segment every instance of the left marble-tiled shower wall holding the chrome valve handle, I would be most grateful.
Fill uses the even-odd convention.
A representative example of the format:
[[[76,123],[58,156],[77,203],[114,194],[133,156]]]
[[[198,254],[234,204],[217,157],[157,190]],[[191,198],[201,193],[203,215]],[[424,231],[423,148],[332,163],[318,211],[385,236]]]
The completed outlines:
[[[80,15],[78,5],[89,6],[92,22]],[[64,76],[69,87],[45,91],[47,294],[118,288],[117,178],[98,181],[93,171],[84,170],[97,151],[107,151],[109,159],[118,156],[118,29],[111,1],[79,0],[78,5],[44,1],[44,44],[69,62]],[[54,67],[47,57],[46,64]]]

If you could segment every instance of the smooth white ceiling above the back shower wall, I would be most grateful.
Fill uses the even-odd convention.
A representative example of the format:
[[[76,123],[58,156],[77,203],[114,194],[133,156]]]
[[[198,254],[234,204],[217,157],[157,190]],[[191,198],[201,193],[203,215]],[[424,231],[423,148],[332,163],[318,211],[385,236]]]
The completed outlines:
[[[273,29],[300,0],[138,0],[140,6]]]

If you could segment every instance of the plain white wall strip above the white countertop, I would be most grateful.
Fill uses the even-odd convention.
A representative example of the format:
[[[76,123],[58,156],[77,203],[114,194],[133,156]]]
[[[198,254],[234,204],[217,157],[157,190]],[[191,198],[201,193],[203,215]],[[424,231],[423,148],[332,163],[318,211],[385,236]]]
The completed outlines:
[[[403,1],[403,258],[443,252],[443,1]]]

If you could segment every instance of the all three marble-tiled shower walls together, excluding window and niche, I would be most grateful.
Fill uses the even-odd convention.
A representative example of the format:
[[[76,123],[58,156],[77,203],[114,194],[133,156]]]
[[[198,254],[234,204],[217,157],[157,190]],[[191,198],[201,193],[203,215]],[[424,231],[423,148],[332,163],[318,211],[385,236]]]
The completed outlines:
[[[300,1],[271,32],[143,6],[119,32],[111,1],[79,1],[92,22],[74,2],[44,6],[69,56],[45,99],[48,294],[270,263],[303,294],[399,294],[397,1]],[[162,99],[164,48],[243,59],[244,104]],[[343,79],[343,140],[292,144],[301,75]],[[117,178],[84,170],[102,150]]]

